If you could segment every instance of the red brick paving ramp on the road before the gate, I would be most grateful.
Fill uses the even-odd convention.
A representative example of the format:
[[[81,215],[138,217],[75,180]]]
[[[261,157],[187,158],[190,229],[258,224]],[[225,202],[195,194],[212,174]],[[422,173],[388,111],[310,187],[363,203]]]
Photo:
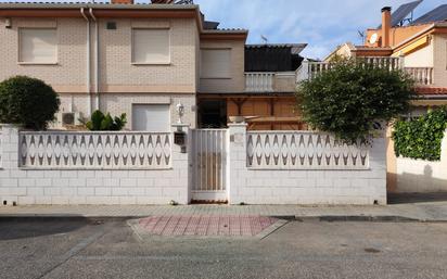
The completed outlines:
[[[143,230],[164,237],[254,237],[277,220],[261,216],[152,216],[139,224]]]

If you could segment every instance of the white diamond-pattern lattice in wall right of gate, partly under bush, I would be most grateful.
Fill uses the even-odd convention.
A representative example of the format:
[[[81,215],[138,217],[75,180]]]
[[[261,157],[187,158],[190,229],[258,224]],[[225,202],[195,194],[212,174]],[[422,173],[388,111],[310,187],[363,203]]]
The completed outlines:
[[[247,166],[264,169],[367,169],[369,145],[311,131],[247,132]]]

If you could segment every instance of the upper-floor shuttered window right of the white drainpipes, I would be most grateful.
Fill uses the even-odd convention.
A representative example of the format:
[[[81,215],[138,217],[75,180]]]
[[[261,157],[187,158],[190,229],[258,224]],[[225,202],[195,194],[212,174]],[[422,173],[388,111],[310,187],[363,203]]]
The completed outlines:
[[[169,64],[169,29],[133,29],[132,63]]]

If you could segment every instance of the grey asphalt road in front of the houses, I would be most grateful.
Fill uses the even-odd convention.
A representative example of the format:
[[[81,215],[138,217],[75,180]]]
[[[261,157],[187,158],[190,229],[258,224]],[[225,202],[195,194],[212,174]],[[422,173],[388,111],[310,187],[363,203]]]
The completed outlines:
[[[292,221],[263,240],[135,237],[124,220],[2,220],[0,278],[447,278],[447,224]]]

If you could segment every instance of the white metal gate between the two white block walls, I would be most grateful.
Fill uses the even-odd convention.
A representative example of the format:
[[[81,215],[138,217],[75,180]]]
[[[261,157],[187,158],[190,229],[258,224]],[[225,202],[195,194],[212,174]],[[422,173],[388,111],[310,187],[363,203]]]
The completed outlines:
[[[192,130],[192,200],[227,201],[227,129]]]

